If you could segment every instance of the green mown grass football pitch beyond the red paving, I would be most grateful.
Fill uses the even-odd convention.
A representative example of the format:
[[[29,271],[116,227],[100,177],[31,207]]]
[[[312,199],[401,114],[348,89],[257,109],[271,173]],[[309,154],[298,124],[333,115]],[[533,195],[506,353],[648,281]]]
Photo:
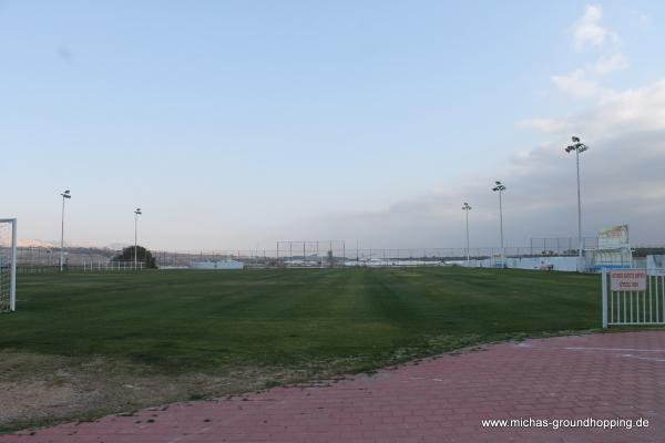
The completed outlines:
[[[160,385],[183,387],[143,396],[132,392],[129,401],[121,390],[102,396],[103,404],[64,411],[61,419],[592,329],[601,315],[598,276],[573,272],[168,270],[20,276],[18,285],[18,311],[0,316],[0,382],[20,384],[40,371],[64,371],[54,383],[78,389],[86,371],[95,371],[100,382],[150,385],[146,377],[153,377]],[[11,427],[18,415],[4,416],[0,427]]]

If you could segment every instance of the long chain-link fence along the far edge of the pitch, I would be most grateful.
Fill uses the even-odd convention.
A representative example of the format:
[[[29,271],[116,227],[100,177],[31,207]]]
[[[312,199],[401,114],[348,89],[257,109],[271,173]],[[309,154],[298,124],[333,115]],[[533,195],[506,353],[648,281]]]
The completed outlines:
[[[507,247],[505,258],[575,257],[577,238],[533,238],[528,246]],[[584,249],[597,247],[595,237],[584,238]],[[665,245],[638,246],[637,251],[649,254],[665,251]],[[192,264],[239,261],[252,267],[331,267],[331,266],[427,266],[467,260],[466,248],[364,248],[357,243],[344,240],[276,241],[272,248],[167,251],[151,250],[155,264],[162,269],[188,268]],[[114,260],[117,250],[100,248],[65,248],[65,270],[89,271],[127,269],[133,264],[119,265]],[[469,249],[471,260],[488,260],[501,257],[499,247],[473,247]],[[640,253],[635,254],[640,256]],[[40,272],[59,268],[60,249],[23,247],[18,249],[20,272]],[[114,267],[115,266],[115,267]],[[143,265],[141,265],[143,266]],[[200,266],[204,268],[204,266]]]

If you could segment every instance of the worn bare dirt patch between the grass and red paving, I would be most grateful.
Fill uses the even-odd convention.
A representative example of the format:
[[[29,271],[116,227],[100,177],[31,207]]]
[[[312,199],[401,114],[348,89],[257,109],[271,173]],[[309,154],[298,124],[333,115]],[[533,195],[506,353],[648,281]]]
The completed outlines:
[[[0,431],[257,391],[305,377],[237,368],[218,372],[168,375],[101,357],[0,352]]]

